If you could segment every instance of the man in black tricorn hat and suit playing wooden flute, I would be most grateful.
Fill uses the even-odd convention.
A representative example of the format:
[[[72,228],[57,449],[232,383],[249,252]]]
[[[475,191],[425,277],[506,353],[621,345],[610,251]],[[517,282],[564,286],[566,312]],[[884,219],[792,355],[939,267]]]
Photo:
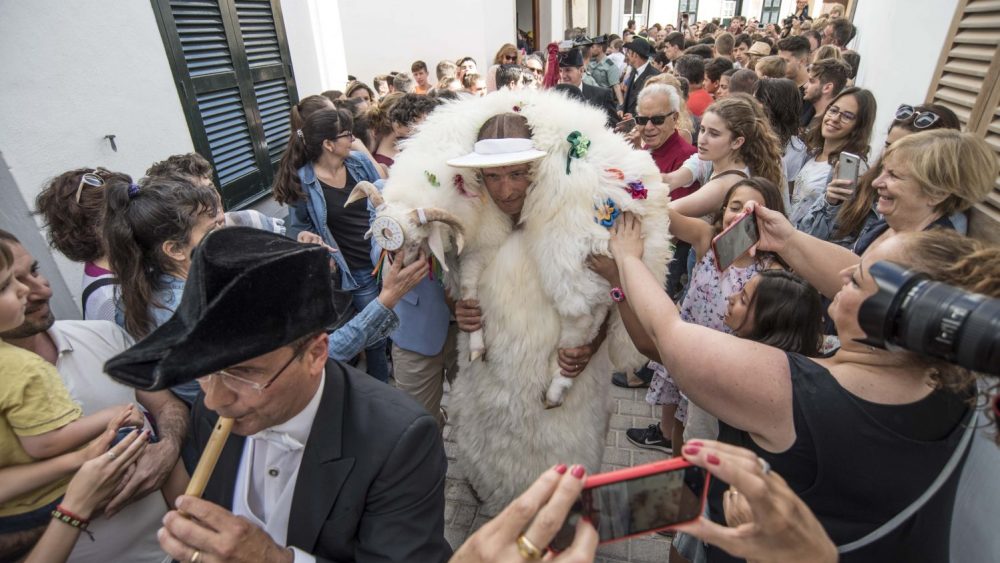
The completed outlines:
[[[446,561],[447,461],[434,417],[327,358],[327,251],[257,229],[205,238],[174,316],[106,368],[142,389],[197,379],[200,447],[232,435],[204,500],[160,530],[179,561]]]

